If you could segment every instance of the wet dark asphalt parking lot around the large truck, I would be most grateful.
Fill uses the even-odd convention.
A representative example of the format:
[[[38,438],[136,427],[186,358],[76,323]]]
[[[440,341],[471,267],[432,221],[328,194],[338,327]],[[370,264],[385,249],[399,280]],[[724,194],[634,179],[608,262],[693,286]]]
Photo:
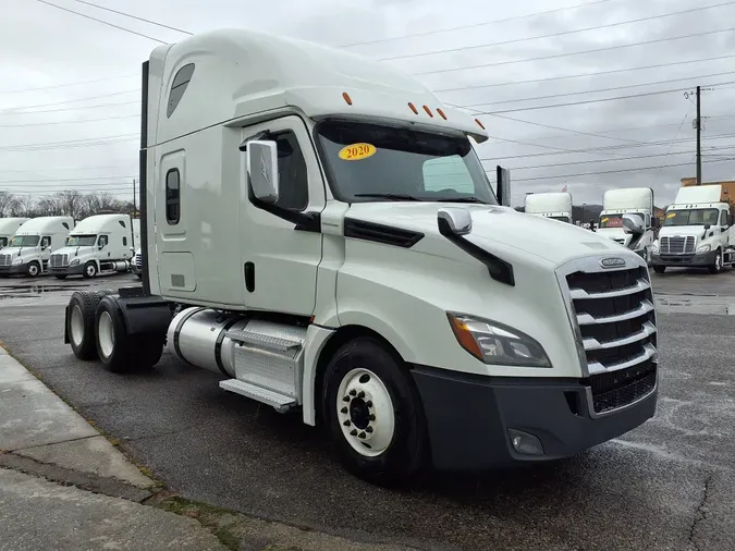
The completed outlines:
[[[421,549],[732,550],[735,270],[652,278],[662,368],[653,419],[569,460],[430,475],[404,491],[353,478],[297,416],[225,393],[216,375],[168,354],[135,376],[77,360],[63,344],[63,310],[87,282],[1,280],[0,341],[185,498]]]

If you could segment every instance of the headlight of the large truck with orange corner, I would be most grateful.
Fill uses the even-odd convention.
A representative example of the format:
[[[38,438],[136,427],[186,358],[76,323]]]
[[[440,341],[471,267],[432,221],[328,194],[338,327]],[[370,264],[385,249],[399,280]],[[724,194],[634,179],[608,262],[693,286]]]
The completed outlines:
[[[551,367],[541,345],[517,329],[464,314],[446,317],[460,345],[485,364]]]

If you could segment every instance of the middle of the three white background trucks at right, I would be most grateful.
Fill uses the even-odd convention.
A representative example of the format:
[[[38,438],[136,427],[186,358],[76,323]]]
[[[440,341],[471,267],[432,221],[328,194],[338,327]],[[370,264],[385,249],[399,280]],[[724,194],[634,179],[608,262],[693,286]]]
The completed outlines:
[[[640,231],[626,229],[623,220],[625,215],[640,218]],[[653,189],[650,187],[610,189],[602,196],[602,212],[597,232],[640,255],[649,264],[657,223],[658,219],[653,216]]]

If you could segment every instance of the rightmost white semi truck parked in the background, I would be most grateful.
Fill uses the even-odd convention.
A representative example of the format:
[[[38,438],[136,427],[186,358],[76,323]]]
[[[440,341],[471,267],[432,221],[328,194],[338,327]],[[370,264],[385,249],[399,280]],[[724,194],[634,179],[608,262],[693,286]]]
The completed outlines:
[[[669,266],[707,268],[719,273],[735,264],[735,229],[722,186],[682,187],[666,209],[659,238],[653,244],[657,273]]]

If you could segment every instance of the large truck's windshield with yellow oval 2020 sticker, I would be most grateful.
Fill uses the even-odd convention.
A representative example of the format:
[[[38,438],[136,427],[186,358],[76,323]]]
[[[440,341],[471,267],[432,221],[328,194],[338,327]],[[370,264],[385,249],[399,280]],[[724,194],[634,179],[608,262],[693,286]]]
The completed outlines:
[[[468,138],[344,121],[321,123],[318,136],[340,200],[498,205]]]

